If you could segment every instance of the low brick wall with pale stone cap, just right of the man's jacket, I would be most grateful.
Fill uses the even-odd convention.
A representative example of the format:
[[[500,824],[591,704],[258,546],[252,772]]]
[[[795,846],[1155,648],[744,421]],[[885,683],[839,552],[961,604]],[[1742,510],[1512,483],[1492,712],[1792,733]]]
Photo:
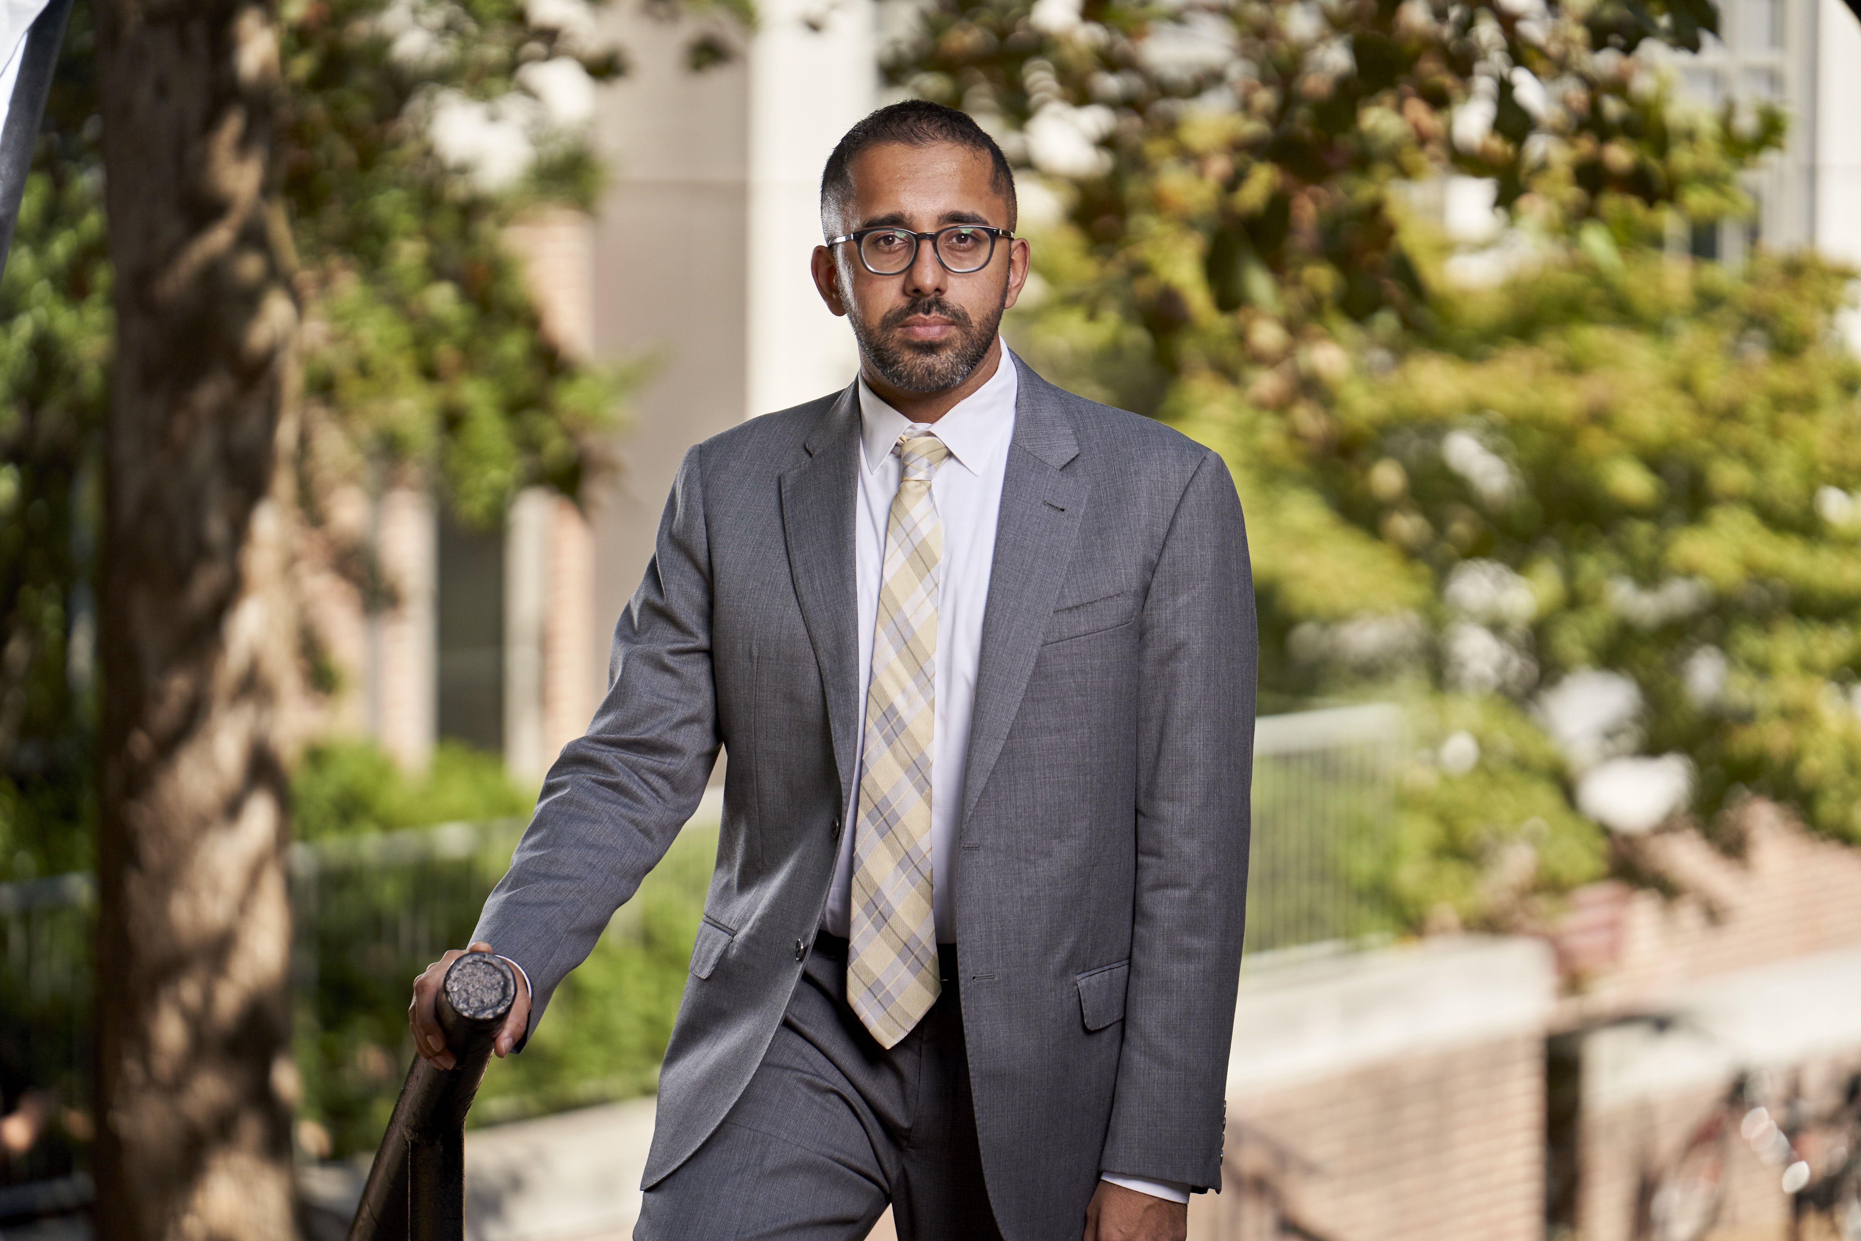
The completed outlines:
[[[1189,1235],[1541,1241],[1552,986],[1541,943],[1474,936],[1252,966]]]

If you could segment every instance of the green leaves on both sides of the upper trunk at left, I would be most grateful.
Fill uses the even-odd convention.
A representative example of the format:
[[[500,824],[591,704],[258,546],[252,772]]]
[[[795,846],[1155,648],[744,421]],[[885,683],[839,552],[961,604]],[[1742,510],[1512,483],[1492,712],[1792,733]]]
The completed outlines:
[[[508,0],[303,0],[279,13],[277,225],[298,255],[305,324],[298,500],[307,528],[326,527],[307,553],[370,607],[393,599],[393,582],[378,580],[363,532],[328,525],[333,497],[411,474],[484,527],[532,482],[575,495],[625,385],[547,340],[501,240],[521,212],[586,201],[596,184],[582,128],[549,115],[536,74],[573,87],[618,58],[592,43],[584,9],[549,11],[536,24]],[[489,115],[473,106],[502,108],[530,158],[497,184],[460,153],[441,158],[447,106],[467,123]],[[0,878],[91,856],[112,352],[97,108],[80,6],[0,275]],[[303,638],[309,681],[329,688],[316,634]]]

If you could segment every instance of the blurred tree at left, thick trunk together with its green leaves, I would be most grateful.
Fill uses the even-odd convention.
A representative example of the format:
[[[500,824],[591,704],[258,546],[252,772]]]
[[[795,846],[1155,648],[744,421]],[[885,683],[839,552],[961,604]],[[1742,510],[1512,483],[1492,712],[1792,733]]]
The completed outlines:
[[[746,6],[690,7],[692,65],[728,58]],[[97,22],[0,275],[0,876],[91,861],[100,763],[102,1226],[257,1235],[288,1228],[281,765],[328,668],[292,571],[391,597],[341,487],[430,480],[488,525],[596,463],[623,376],[542,337],[501,229],[594,192],[620,61],[577,2]]]

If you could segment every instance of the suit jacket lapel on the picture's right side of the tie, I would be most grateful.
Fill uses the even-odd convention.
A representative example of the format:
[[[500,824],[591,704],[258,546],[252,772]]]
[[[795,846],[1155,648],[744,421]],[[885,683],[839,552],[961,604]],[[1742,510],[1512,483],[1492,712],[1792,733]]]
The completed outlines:
[[[1001,757],[1009,726],[1022,707],[1027,677],[1040,651],[1040,634],[1072,564],[1087,486],[1064,471],[1079,454],[1072,424],[1046,380],[1014,359],[1020,391],[1014,400],[1014,441],[1001,480],[996,523],[996,560],[988,573],[983,612],[983,651],[975,672],[970,716],[970,759],[962,781],[962,821],[968,822],[988,776]]]

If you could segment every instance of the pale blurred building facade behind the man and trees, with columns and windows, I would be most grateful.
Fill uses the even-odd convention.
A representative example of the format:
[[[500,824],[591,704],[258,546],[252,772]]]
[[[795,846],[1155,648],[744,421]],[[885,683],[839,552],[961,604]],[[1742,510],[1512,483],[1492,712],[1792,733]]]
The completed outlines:
[[[1747,177],[1753,218],[1682,229],[1675,246],[1725,262],[1751,246],[1816,247],[1861,270],[1861,22],[1842,0],[1721,4],[1723,35],[1671,56],[1680,93],[1708,108],[1779,102],[1790,128]],[[642,7],[616,6],[601,22],[631,61],[599,91],[603,199],[594,218],[529,220],[512,246],[562,348],[644,363],[646,378],[607,445],[612,469],[581,508],[527,493],[504,532],[486,536],[417,493],[374,502],[398,603],[348,625],[365,692],[346,724],[408,767],[456,737],[540,778],[605,688],[612,625],[685,450],[854,372],[852,337],[821,305],[808,257],[821,240],[819,169],[880,99],[878,6],[763,0],[748,35]],[[705,33],[731,54],[692,69]],[[1450,231],[1465,231],[1459,216],[1487,229],[1485,186],[1450,182],[1440,197]],[[1861,314],[1850,335],[1861,346]]]

